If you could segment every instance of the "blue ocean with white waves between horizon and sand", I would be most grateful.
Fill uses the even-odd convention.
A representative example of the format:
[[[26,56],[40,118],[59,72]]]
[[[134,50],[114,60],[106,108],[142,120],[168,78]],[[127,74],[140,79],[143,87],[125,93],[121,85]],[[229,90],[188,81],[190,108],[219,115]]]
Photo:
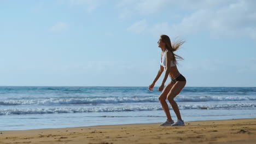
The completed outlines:
[[[0,130],[160,123],[157,87],[0,87]],[[185,87],[184,122],[256,118],[256,87]],[[169,104],[171,116],[176,116]]]

